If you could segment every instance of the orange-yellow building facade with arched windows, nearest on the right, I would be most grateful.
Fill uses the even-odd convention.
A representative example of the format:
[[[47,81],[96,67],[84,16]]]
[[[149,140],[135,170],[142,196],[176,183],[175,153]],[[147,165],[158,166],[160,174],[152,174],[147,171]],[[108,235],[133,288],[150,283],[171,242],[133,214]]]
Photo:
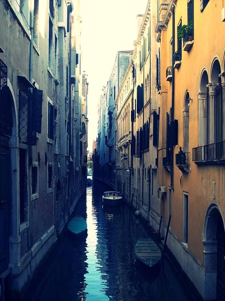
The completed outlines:
[[[158,2],[158,187],[168,248],[204,300],[224,294],[222,1]]]

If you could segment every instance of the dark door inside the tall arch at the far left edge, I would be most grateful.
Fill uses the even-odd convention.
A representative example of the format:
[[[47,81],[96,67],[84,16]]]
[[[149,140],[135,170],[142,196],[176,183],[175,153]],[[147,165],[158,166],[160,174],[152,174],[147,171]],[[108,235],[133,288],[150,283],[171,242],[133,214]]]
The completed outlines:
[[[0,275],[9,264],[9,165],[9,141],[0,135]]]

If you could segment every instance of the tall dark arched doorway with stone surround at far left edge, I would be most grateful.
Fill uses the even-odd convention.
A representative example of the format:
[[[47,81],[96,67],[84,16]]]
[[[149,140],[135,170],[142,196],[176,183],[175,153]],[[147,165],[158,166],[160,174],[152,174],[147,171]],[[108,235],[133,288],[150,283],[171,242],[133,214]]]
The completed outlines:
[[[0,276],[4,273],[4,278],[10,273],[9,263],[18,262],[20,246],[14,239],[20,234],[19,152],[16,99],[2,61],[0,67]]]

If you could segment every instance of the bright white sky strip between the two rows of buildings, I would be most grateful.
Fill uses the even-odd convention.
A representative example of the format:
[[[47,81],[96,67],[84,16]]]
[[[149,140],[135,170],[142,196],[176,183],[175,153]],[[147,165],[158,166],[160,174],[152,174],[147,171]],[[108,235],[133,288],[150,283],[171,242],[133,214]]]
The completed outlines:
[[[97,136],[97,104],[117,51],[134,49],[138,14],[148,0],[80,0],[83,70],[88,74],[88,149]]]

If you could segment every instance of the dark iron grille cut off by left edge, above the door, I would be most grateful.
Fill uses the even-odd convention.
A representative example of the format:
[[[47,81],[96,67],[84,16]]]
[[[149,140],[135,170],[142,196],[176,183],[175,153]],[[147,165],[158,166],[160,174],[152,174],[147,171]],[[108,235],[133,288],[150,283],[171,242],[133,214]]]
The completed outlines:
[[[0,132],[7,134],[7,65],[0,60]]]

